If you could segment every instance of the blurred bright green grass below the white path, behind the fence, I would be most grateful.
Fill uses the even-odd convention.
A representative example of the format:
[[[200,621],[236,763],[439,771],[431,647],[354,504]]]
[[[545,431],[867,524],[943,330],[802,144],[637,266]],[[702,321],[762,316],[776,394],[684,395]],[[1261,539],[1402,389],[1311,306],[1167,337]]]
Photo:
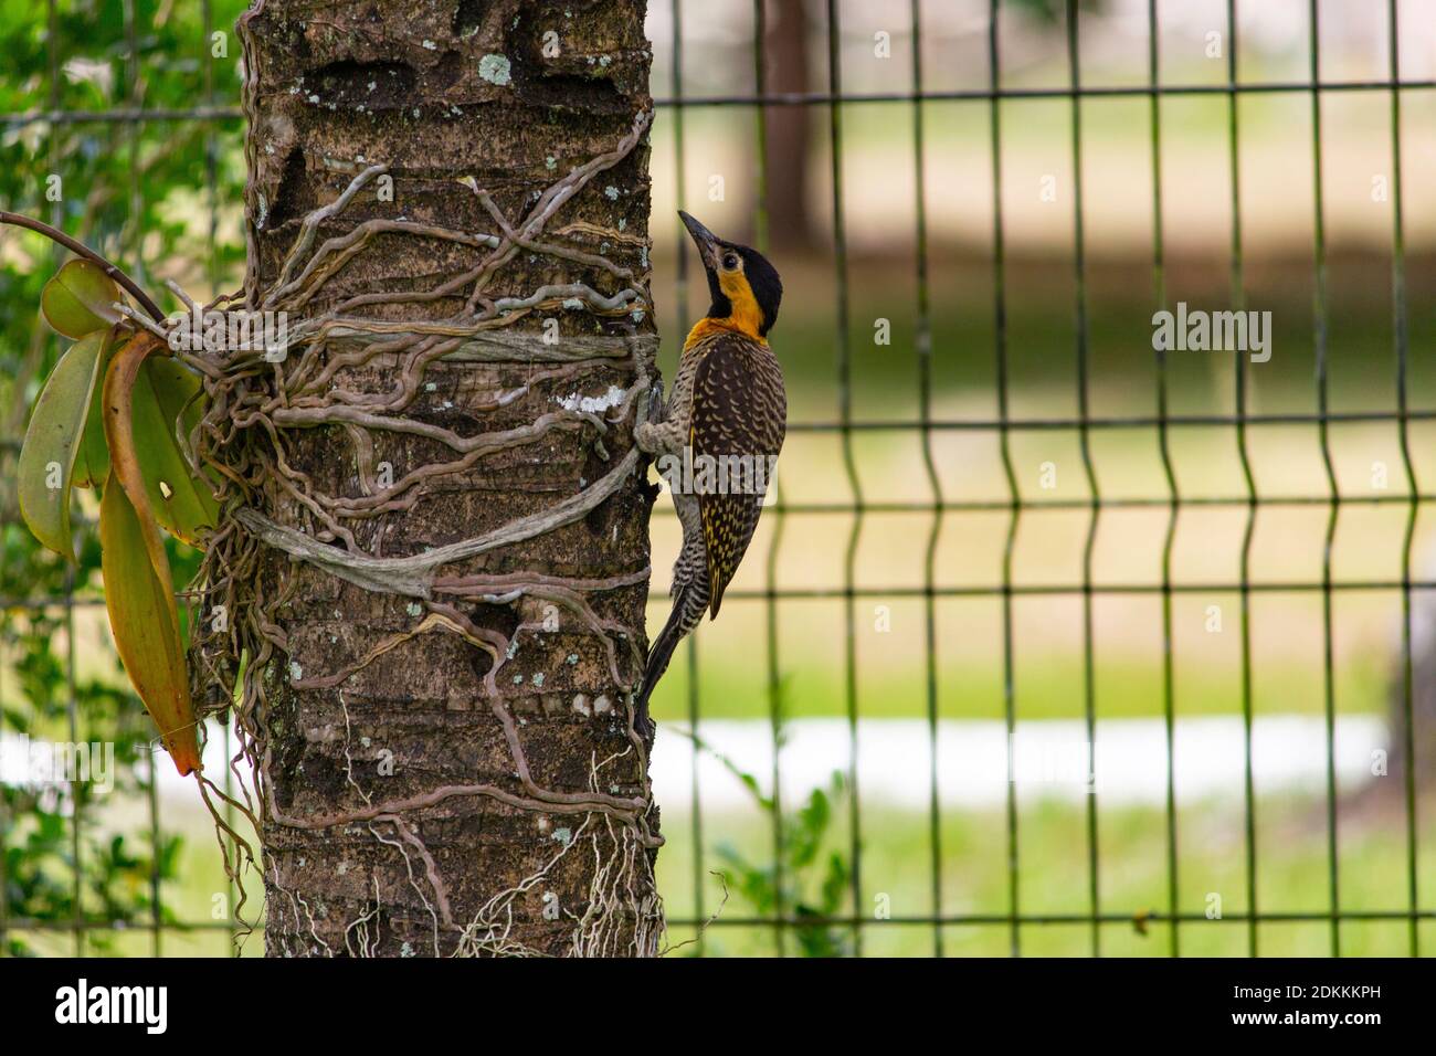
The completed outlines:
[[[165,905],[181,921],[208,920],[214,895],[227,891],[214,852],[208,816],[198,805],[167,802],[165,823],[184,833],[180,875],[167,885]],[[702,878],[702,915],[715,912],[722,899],[722,882],[709,875],[721,869],[719,845],[731,845],[747,856],[765,861],[771,853],[771,829],[754,812],[728,810],[704,815],[702,861],[694,862],[694,832],[689,816],[672,805],[663,818],[666,845],[658,856],[659,889],[671,920],[695,917],[694,872]],[[1419,816],[1430,818],[1436,803],[1423,803]],[[893,918],[932,914],[932,866],[928,818],[895,812],[869,803],[863,810],[862,882],[864,917],[873,917],[883,897]],[[1379,806],[1343,803],[1338,812],[1340,892],[1347,911],[1400,911],[1406,907],[1407,848],[1399,803]],[[111,823],[141,822],[138,810],[121,810]],[[1021,802],[1018,816],[1020,911],[1027,915],[1086,914],[1088,911],[1088,853],[1086,806],[1047,800]],[[847,852],[846,805],[839,805],[829,829],[829,849]],[[1229,920],[1245,907],[1246,872],[1244,823],[1239,802],[1185,805],[1178,815],[1179,911],[1206,914],[1209,895],[1218,894],[1228,920],[1200,920],[1180,927],[1183,955],[1241,957],[1248,950],[1246,925]],[[1261,912],[1324,912],[1330,907],[1327,888],[1327,832],[1324,800],[1262,797],[1256,805],[1258,907]],[[1427,823],[1420,836],[1419,875],[1423,891],[1436,879],[1436,832]],[[1005,915],[1008,912],[1007,819],[1002,812],[948,809],[941,823],[942,911],[948,915]],[[1101,807],[1099,828],[1100,907],[1106,914],[1143,914],[1167,907],[1166,822],[1159,809]],[[258,894],[260,885],[251,878]],[[729,885],[735,891],[735,885]],[[811,889],[811,884],[808,888]],[[253,902],[251,902],[253,905]],[[719,921],[752,917],[741,897],[731,894]],[[673,927],[671,941],[694,937],[692,928]],[[1420,925],[1423,953],[1436,950],[1436,922]],[[1132,921],[1101,925],[1101,951],[1107,955],[1162,957],[1170,953],[1172,930],[1163,922],[1146,925],[1146,934]],[[931,955],[933,931],[929,925],[872,924],[864,928],[863,951],[869,955]],[[1324,921],[1264,922],[1258,928],[1262,955],[1327,955],[1331,932]],[[1010,931],[1005,922],[948,925],[943,928],[948,955],[1007,955]],[[36,947],[52,954],[73,950],[67,935],[45,935]],[[119,934],[112,953],[148,955],[148,934]],[[788,953],[794,950],[788,941]],[[1028,955],[1087,955],[1091,928],[1081,924],[1031,924],[1021,930],[1021,948]],[[770,955],[775,950],[771,927],[715,924],[704,932],[707,955]],[[98,951],[92,947],[92,951]],[[689,955],[685,945],[673,955]],[[1403,921],[1341,925],[1344,955],[1402,957],[1409,953]],[[225,955],[224,932],[167,930],[167,955]],[[263,937],[253,935],[244,955],[260,955]]]

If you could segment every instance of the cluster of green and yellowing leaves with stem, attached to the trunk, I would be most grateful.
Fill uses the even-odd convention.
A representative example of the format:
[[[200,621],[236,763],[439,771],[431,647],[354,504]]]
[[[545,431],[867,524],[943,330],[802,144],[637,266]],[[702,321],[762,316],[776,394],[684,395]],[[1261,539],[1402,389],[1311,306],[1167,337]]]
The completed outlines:
[[[101,490],[101,570],[115,647],[161,743],[190,774],[201,769],[198,728],[164,534],[200,546],[218,523],[213,487],[188,454],[204,389],[158,336],[164,313],[132,279],[39,220],[0,213],[0,223],[75,253],[40,295],[45,320],[75,343],[30,415],[17,464],[20,514],[42,545],[75,560],[72,488]]]

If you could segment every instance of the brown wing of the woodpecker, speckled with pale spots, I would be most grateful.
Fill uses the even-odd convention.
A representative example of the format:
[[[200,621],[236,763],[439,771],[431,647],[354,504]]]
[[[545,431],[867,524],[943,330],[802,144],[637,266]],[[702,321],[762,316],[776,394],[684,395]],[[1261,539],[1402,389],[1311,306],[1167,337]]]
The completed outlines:
[[[783,369],[773,351],[738,333],[714,338],[694,378],[688,432],[694,466],[701,467],[704,455],[714,460],[737,455],[747,458],[747,466],[763,460],[761,471],[767,474],[771,470],[768,457],[775,458],[783,450],[787,418]],[[752,480],[748,478],[748,483]],[[712,589],[709,612],[717,616],[724,589],[758,527],[763,494],[751,487],[728,493],[701,491],[698,509]]]

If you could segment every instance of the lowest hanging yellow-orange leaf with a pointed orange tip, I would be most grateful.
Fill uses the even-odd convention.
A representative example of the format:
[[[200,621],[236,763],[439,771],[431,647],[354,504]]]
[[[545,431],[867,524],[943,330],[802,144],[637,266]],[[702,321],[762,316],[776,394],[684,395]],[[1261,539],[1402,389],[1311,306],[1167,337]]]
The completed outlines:
[[[115,647],[182,777],[201,763],[174,582],[162,543],[161,563],[154,562],[152,542],[159,540],[154,522],[141,519],[113,474],[101,500],[99,537]]]

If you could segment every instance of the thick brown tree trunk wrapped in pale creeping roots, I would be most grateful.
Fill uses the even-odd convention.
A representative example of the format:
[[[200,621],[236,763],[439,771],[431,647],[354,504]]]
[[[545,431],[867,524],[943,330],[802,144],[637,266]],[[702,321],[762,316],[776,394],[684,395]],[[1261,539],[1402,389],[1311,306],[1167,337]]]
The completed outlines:
[[[253,595],[228,589],[270,955],[656,951],[628,695],[656,378],[643,9],[241,19],[246,306],[299,333],[225,382],[251,471],[211,552],[256,555]]]

